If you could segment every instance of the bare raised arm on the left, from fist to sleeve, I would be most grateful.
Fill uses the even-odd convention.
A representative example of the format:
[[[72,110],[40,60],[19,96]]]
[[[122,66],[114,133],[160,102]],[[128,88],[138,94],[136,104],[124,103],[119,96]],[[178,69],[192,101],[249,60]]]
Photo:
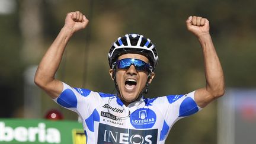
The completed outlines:
[[[59,68],[66,44],[73,33],[84,29],[88,22],[85,15],[79,11],[68,13],[65,25],[41,59],[34,82],[52,98],[59,96],[63,89],[62,82],[55,79],[55,73]]]

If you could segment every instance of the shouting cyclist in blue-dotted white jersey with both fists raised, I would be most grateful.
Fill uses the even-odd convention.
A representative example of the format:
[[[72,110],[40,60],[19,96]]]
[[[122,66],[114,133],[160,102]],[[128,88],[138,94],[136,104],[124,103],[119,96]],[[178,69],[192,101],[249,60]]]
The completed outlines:
[[[224,76],[209,34],[209,21],[196,16],[188,17],[186,24],[203,49],[206,87],[185,95],[144,97],[155,76],[158,54],[151,40],[126,34],[113,43],[108,53],[117,94],[72,88],[55,79],[55,73],[72,34],[87,24],[81,12],[66,15],[65,25],[43,56],[34,78],[56,103],[78,113],[87,143],[165,143],[177,120],[224,94]]]

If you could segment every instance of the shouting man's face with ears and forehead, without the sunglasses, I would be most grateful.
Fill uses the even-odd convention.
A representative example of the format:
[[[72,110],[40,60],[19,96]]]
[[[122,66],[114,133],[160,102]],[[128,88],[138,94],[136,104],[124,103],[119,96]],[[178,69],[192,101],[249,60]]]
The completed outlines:
[[[147,57],[135,53],[127,53],[121,55],[118,60],[121,59],[140,59],[146,63],[149,63]],[[113,69],[110,69],[110,75],[112,76]],[[118,69],[116,71],[116,82],[119,87],[120,95],[119,97],[123,101],[125,105],[128,105],[135,101],[140,92],[146,85],[148,80],[148,72],[145,71],[137,71],[134,65],[131,65],[128,69]],[[151,73],[151,78],[149,79],[149,84],[151,83],[155,73]]]

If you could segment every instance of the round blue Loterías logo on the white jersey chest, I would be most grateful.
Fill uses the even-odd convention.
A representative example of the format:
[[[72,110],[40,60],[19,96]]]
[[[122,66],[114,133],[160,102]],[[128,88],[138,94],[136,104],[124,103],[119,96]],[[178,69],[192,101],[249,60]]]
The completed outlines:
[[[149,108],[139,108],[130,115],[130,123],[136,129],[148,129],[153,127],[156,114]]]

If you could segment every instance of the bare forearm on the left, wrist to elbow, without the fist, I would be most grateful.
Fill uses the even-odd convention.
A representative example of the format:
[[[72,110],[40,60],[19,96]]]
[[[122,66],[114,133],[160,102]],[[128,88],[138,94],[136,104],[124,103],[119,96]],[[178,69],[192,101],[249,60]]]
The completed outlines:
[[[63,52],[71,36],[72,30],[63,27],[43,59],[41,59],[35,75],[35,82],[40,87],[46,87],[49,82],[55,81],[55,73],[59,68]]]

